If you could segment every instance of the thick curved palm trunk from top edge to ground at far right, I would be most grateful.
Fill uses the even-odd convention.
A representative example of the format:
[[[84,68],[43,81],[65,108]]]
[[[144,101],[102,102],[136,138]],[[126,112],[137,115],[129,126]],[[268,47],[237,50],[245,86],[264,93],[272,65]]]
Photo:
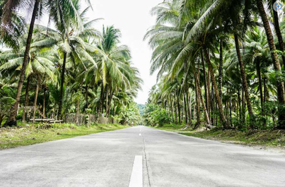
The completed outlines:
[[[280,62],[278,59],[278,54],[276,52],[276,46],[274,43],[274,38],[272,35],[272,30],[269,25],[269,21],[267,18],[267,14],[264,10],[264,6],[262,4],[262,0],[257,0],[257,7],[260,12],[260,16],[262,18],[262,23],[264,26],[264,30],[267,35],[267,41],[269,44],[269,48],[271,51],[272,61],[274,65],[275,71],[281,71]],[[276,24],[275,24],[276,25]],[[285,129],[285,95],[284,95],[284,83],[277,78],[277,96],[278,96],[278,102],[279,102],[279,117],[278,117],[278,125],[277,128]]]

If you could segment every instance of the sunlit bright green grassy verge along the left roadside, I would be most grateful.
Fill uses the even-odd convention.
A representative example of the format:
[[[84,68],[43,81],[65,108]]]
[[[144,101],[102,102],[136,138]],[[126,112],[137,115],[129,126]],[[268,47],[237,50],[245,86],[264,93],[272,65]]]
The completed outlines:
[[[0,128],[0,150],[44,143],[52,140],[73,138],[105,131],[127,128],[118,124],[94,124],[90,127],[73,124],[30,124],[18,128]]]

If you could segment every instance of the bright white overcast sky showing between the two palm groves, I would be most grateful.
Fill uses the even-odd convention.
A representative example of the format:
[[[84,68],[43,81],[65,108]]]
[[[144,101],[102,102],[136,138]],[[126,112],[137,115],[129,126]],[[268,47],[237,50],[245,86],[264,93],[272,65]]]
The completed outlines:
[[[83,1],[83,0],[82,0]],[[160,4],[162,0],[91,0],[93,11],[88,13],[90,20],[104,18],[95,25],[102,30],[103,25],[114,25],[122,32],[121,42],[127,44],[132,51],[132,62],[139,68],[141,78],[144,80],[143,90],[139,92],[135,102],[146,103],[149,90],[156,84],[156,75],[149,75],[151,49],[148,41],[143,41],[146,30],[154,23],[155,17],[150,15],[151,8]],[[83,6],[85,8],[86,6]],[[40,24],[46,22],[46,18]]]

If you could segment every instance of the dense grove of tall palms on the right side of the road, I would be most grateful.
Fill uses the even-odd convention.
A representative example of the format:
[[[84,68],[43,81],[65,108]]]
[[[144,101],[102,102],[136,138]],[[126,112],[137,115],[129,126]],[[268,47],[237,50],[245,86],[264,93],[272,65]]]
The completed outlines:
[[[284,11],[273,6],[166,0],[154,7],[156,25],[145,39],[158,84],[149,104],[168,111],[171,122],[194,128],[284,129]]]

